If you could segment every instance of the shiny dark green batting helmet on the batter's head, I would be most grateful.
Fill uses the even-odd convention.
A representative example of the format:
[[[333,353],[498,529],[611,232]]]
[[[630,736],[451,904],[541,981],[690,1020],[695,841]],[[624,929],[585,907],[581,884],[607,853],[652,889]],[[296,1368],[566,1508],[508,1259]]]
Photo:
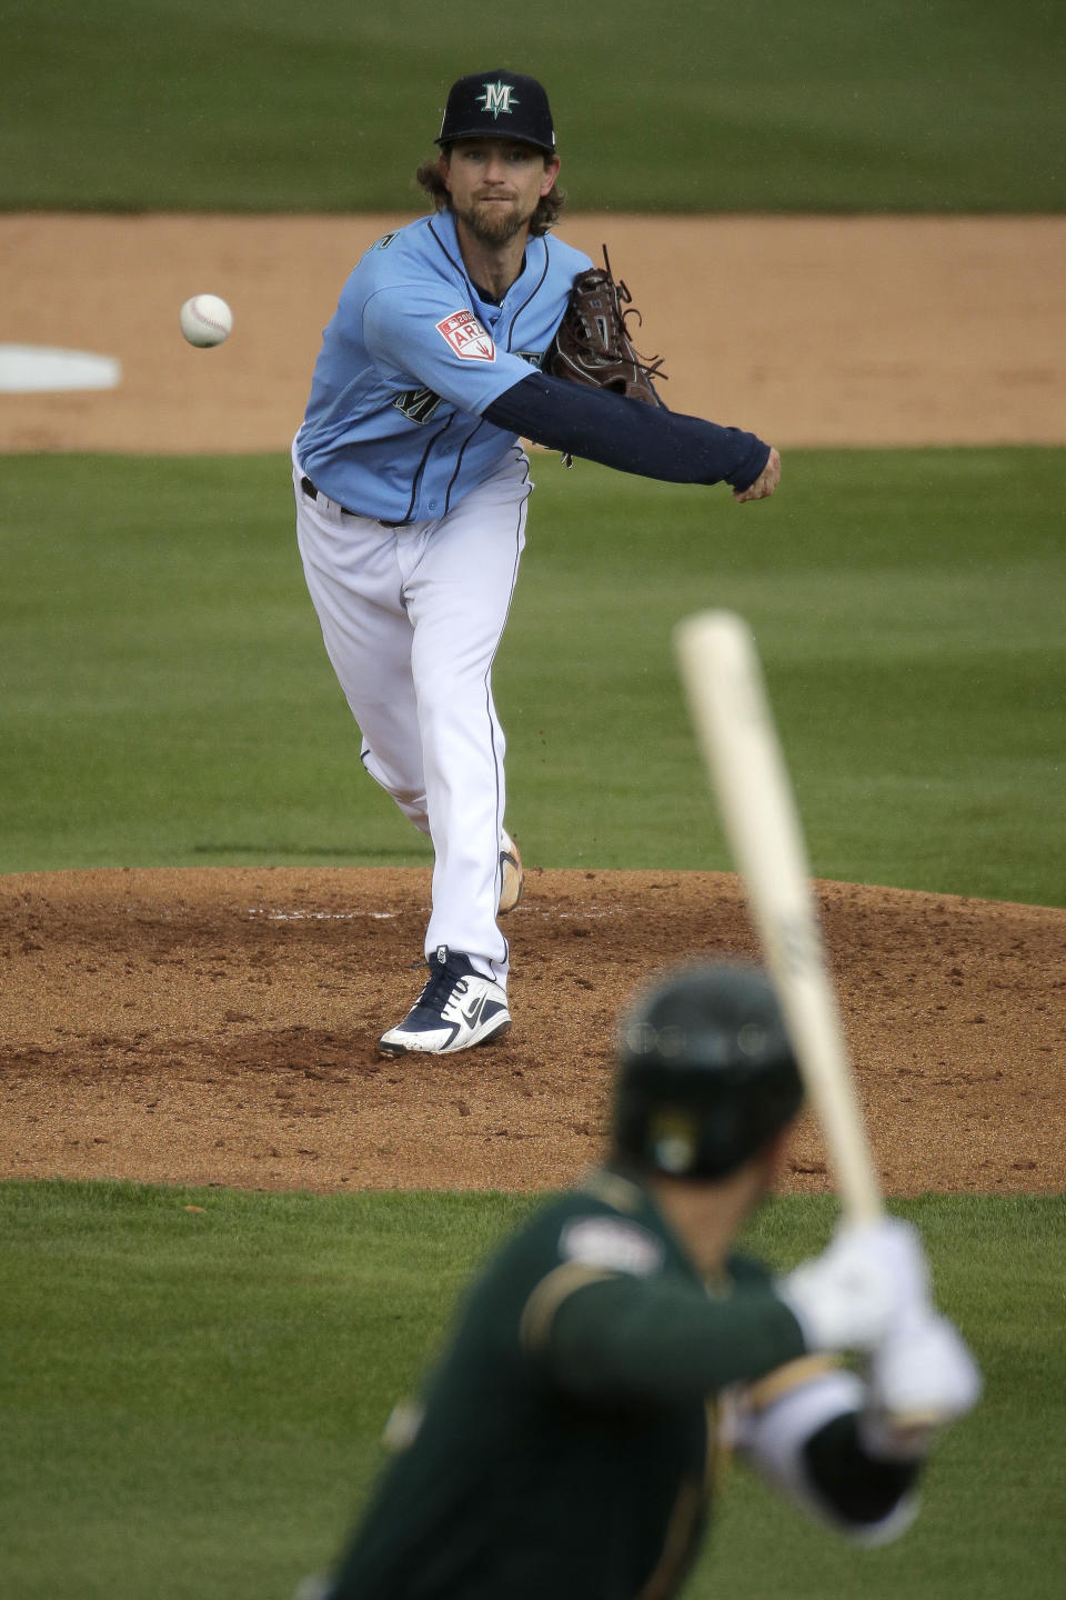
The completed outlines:
[[[802,1080],[769,979],[686,966],[623,1018],[614,1154],[676,1178],[724,1178],[785,1128]]]

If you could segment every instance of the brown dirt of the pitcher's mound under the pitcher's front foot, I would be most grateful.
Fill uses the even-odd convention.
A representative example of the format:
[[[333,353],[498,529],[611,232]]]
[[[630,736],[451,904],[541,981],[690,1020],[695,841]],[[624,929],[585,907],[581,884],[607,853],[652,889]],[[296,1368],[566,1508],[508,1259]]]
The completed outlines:
[[[818,894],[885,1189],[1064,1189],[1066,912]],[[420,869],[0,878],[0,1178],[566,1184],[599,1150],[625,997],[663,962],[754,955],[732,875],[531,872],[510,1038],[380,1061],[427,912]],[[809,1120],[788,1187],[828,1187]]]

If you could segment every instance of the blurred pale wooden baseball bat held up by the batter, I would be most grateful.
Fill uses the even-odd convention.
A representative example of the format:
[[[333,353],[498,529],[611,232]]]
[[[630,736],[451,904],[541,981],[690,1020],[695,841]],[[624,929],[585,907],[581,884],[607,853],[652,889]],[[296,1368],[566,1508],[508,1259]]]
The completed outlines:
[[[853,1221],[874,1221],[882,1213],[881,1186],[829,982],[799,813],[751,634],[732,611],[703,611],[678,624],[674,648],[841,1205]]]

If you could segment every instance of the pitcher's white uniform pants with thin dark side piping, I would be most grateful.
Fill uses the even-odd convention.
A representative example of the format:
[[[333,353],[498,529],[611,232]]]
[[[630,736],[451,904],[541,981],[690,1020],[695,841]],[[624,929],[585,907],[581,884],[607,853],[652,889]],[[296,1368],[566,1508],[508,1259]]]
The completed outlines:
[[[526,542],[529,462],[516,448],[446,517],[403,528],[312,499],[300,478],[294,462],[307,587],[363,734],[363,765],[433,840],[427,955],[446,944],[507,986],[492,659]]]

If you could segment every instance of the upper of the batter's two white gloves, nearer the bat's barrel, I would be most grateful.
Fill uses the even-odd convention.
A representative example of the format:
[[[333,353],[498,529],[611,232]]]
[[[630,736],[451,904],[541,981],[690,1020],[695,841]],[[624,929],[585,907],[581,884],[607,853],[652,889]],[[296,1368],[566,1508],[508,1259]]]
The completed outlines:
[[[828,1250],[777,1283],[809,1350],[873,1350],[892,1326],[932,1314],[917,1230],[900,1218],[844,1222]]]

